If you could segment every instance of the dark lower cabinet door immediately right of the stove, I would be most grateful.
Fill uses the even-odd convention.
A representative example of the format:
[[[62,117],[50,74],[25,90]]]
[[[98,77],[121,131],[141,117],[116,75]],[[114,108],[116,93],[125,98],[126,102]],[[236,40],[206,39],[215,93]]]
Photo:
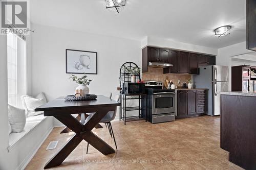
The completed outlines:
[[[187,115],[187,91],[177,92],[177,116]]]

